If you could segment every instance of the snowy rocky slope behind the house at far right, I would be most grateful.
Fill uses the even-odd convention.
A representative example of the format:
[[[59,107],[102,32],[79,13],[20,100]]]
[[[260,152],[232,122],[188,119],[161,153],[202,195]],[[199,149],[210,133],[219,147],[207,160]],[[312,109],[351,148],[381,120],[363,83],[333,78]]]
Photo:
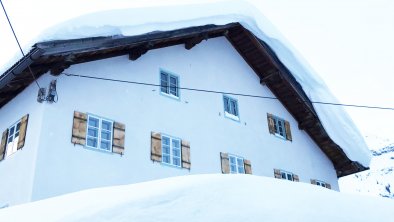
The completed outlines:
[[[372,154],[370,170],[341,178],[341,191],[394,199],[394,143]]]

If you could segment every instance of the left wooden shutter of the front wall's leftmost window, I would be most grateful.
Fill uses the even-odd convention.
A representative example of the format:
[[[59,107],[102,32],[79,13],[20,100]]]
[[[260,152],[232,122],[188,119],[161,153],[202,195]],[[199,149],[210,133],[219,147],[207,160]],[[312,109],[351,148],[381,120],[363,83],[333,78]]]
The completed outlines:
[[[71,142],[75,144],[85,145],[86,143],[86,127],[88,122],[88,115],[74,111],[73,131]]]

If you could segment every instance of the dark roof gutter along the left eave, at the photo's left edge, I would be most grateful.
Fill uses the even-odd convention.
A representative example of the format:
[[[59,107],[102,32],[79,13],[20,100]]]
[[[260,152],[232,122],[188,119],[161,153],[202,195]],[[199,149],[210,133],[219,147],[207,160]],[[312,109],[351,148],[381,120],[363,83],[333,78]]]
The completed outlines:
[[[4,75],[0,77],[0,89],[9,84],[14,78],[18,77],[27,67],[29,67],[34,60],[38,59],[44,50],[40,48],[33,48],[27,55],[19,60],[15,65],[9,68]]]

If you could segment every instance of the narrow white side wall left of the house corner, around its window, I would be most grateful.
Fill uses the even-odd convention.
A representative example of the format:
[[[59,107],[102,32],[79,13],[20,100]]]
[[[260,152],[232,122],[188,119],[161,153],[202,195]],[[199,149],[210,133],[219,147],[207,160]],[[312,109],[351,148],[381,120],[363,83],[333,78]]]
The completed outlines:
[[[37,85],[31,84],[0,109],[0,133],[29,114],[24,147],[0,161],[0,207],[31,201],[45,105],[37,102],[37,92]]]

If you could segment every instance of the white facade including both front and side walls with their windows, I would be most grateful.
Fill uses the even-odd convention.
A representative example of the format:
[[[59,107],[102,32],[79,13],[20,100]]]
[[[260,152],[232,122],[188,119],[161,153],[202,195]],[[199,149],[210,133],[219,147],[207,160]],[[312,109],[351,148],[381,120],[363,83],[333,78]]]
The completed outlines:
[[[225,37],[190,50],[152,49],[135,61],[123,55],[73,64],[64,73],[94,78],[48,72],[38,82],[57,80],[56,103],[38,103],[32,83],[0,109],[8,135],[28,114],[23,147],[11,152],[8,139],[0,161],[0,207],[207,173],[339,190],[332,161],[280,100],[261,98],[275,95]],[[84,114],[85,132],[77,132],[75,112]]]

